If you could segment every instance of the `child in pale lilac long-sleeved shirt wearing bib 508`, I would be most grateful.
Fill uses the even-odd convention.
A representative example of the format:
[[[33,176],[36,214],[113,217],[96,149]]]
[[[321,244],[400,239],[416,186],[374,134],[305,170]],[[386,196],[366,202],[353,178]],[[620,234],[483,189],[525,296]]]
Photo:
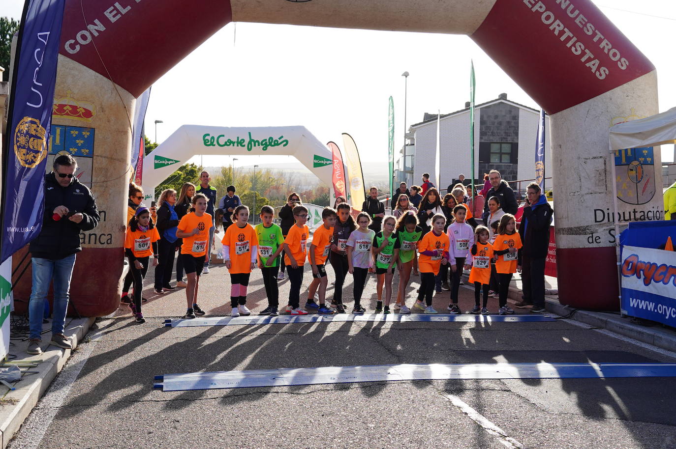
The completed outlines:
[[[446,230],[450,245],[448,248],[448,263],[451,265],[451,303],[448,305],[448,311],[452,315],[460,313],[458,288],[460,288],[460,279],[462,279],[462,267],[469,248],[474,244],[472,226],[465,223],[466,213],[467,209],[464,208],[464,205],[454,207],[455,221]]]

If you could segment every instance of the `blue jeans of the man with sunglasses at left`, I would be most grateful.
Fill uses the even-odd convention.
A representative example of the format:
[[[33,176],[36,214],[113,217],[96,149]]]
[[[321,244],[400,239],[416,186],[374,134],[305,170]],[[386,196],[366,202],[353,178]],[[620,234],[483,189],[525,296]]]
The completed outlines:
[[[33,257],[32,261],[32,290],[28,302],[28,317],[30,321],[30,338],[40,338],[45,314],[45,300],[49,292],[49,284],[54,280],[54,312],[51,321],[51,333],[63,334],[66,325],[66,310],[68,310],[68,290],[70,278],[75,265],[75,255],[72,254],[57,261]]]

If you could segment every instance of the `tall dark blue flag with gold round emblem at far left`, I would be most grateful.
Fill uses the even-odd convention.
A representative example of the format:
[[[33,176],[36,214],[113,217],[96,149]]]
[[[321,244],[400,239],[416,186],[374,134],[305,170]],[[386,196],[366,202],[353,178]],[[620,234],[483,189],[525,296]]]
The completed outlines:
[[[24,6],[3,146],[0,262],[41,230],[63,16],[64,0],[28,0]]]

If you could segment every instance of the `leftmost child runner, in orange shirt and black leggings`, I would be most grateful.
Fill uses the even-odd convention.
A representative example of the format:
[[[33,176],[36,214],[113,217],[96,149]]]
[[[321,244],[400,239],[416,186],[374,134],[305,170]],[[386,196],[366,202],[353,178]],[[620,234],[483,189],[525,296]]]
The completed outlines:
[[[151,254],[154,257],[153,267],[158,265],[158,240],[160,233],[150,219],[150,210],[145,206],[137,207],[124,236],[124,253],[129,259],[129,272],[134,281],[134,299],[129,302],[129,308],[137,323],[145,323],[141,313],[143,278],[148,271],[148,258]]]

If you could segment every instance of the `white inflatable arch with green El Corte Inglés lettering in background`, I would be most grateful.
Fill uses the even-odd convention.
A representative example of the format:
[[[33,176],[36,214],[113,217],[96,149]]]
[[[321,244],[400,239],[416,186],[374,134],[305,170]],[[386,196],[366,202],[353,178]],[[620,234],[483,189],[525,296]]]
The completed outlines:
[[[333,186],[333,155],[305,126],[183,125],[143,159],[143,191],[153,194],[160,182],[195,155],[289,155],[329,188]]]

